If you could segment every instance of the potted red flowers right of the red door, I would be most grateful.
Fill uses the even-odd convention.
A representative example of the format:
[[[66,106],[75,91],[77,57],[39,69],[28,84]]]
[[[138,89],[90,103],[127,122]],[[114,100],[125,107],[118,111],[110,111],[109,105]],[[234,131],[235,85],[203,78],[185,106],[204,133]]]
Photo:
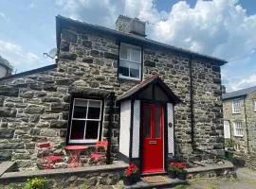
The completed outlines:
[[[176,177],[180,180],[186,180],[187,167],[184,163],[170,163],[168,165],[168,174],[170,178],[175,179]]]

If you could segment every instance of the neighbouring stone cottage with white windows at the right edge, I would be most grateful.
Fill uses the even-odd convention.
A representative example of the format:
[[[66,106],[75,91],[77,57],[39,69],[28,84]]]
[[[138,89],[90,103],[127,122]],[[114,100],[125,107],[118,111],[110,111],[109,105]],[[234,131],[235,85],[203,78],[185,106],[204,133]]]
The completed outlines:
[[[248,166],[256,167],[256,86],[222,94],[224,136]]]

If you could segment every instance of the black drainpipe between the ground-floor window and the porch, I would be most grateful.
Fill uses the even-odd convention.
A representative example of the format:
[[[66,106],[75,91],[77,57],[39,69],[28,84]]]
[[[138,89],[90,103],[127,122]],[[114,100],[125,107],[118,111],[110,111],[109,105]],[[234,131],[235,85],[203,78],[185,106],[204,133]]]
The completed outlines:
[[[106,151],[106,163],[111,163],[111,136],[112,136],[112,126],[113,126],[113,114],[114,114],[114,103],[115,103],[115,93],[110,93],[110,105],[109,105],[109,119],[108,119],[108,129],[107,129],[107,151]]]

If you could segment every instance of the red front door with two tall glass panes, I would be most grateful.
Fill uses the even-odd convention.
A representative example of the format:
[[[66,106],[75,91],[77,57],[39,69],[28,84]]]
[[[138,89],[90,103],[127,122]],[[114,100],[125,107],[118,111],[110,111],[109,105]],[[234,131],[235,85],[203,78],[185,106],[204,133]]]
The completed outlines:
[[[163,106],[144,104],[142,172],[164,171]]]

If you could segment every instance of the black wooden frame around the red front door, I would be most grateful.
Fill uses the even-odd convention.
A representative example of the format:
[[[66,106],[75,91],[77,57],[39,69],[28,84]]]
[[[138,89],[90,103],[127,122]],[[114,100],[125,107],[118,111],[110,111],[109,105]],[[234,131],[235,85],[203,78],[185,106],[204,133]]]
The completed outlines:
[[[140,174],[142,174],[142,161],[143,161],[143,105],[144,104],[155,104],[163,106],[163,113],[164,113],[164,124],[163,124],[163,171],[167,171],[167,160],[168,160],[168,128],[167,128],[167,102],[162,101],[152,101],[152,100],[140,100],[140,123],[139,123],[139,170]]]

